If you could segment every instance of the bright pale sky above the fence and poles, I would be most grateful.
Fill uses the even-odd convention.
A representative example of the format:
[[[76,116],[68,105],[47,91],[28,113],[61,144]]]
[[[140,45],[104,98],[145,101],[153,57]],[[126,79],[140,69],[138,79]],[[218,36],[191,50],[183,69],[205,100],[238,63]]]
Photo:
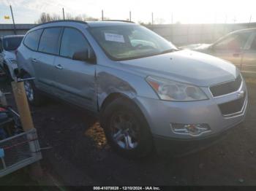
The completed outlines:
[[[256,22],[255,0],[0,0],[0,23],[35,23],[42,12],[65,13],[154,23],[249,23]],[[4,19],[9,15],[10,19]]]

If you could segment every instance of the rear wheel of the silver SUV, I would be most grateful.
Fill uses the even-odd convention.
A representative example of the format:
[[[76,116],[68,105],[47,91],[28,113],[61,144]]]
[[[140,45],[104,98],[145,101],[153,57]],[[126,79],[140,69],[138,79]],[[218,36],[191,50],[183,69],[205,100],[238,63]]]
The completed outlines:
[[[29,74],[24,74],[23,79],[30,77],[31,76]],[[45,98],[41,93],[39,93],[39,90],[37,90],[37,87],[34,85],[33,80],[24,81],[24,88],[29,104],[33,106],[40,106],[44,103]]]

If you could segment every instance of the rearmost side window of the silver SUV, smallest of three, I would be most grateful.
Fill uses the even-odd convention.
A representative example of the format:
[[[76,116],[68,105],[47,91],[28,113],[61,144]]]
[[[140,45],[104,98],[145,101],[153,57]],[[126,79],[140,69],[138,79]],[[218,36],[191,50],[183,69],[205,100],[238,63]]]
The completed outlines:
[[[27,34],[24,40],[26,47],[29,47],[31,50],[37,50],[41,34],[42,29],[31,31],[29,34]]]

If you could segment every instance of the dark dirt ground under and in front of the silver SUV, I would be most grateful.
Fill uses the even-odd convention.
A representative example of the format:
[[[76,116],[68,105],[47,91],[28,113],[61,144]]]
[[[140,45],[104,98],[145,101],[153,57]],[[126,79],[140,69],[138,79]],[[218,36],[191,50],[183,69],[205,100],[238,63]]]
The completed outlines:
[[[10,91],[10,85],[0,84]],[[67,185],[256,185],[256,83],[247,83],[246,120],[218,144],[185,157],[127,160],[111,150],[97,119],[49,100],[31,107],[42,166]],[[12,95],[7,101],[14,105]]]

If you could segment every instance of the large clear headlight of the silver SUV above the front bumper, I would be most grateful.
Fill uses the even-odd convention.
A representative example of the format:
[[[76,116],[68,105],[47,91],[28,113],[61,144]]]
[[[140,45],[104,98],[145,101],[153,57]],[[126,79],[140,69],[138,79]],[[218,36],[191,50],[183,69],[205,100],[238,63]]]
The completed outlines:
[[[147,77],[146,81],[166,101],[200,101],[208,99],[199,87],[173,82],[160,77]]]

